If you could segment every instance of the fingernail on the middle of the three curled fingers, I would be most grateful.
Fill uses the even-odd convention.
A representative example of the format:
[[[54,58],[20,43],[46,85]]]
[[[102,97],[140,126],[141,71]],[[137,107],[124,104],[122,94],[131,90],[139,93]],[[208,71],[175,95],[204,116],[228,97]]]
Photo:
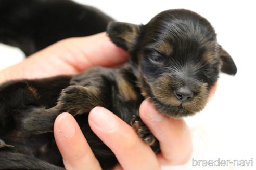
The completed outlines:
[[[111,112],[103,107],[93,108],[90,116],[91,121],[101,129],[112,130],[116,127],[116,121]]]

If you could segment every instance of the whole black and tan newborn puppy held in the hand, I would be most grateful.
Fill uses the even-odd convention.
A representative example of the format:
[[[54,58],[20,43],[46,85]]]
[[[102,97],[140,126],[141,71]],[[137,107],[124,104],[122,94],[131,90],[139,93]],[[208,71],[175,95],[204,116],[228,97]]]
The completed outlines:
[[[168,117],[194,115],[206,105],[220,71],[236,74],[210,23],[189,10],[163,11],[146,25],[112,22],[107,33],[131,54],[124,66],[2,84],[0,169],[61,169],[52,131],[55,118],[66,111],[79,122],[101,166],[113,166],[114,154],[85,121],[95,106],[131,124],[158,152],[158,141],[139,119],[140,103],[149,98]]]

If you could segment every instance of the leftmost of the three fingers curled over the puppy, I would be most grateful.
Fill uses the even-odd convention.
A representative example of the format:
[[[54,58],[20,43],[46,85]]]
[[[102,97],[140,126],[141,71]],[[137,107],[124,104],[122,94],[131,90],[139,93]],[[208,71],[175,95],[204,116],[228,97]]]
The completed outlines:
[[[56,118],[54,137],[66,169],[101,169],[72,115],[63,113]]]

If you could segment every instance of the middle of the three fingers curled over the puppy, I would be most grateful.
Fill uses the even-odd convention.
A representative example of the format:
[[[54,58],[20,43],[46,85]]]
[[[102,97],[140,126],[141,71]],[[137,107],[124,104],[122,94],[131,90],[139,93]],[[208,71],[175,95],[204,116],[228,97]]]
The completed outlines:
[[[124,169],[160,169],[151,148],[112,112],[95,107],[88,120],[93,132],[113,151]]]

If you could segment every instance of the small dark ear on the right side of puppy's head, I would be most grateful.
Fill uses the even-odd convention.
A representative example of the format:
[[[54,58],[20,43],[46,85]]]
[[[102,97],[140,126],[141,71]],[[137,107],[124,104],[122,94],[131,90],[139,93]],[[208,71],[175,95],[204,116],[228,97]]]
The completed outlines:
[[[237,72],[236,65],[231,56],[220,46],[219,56],[222,62],[221,72],[229,75],[235,75]]]

